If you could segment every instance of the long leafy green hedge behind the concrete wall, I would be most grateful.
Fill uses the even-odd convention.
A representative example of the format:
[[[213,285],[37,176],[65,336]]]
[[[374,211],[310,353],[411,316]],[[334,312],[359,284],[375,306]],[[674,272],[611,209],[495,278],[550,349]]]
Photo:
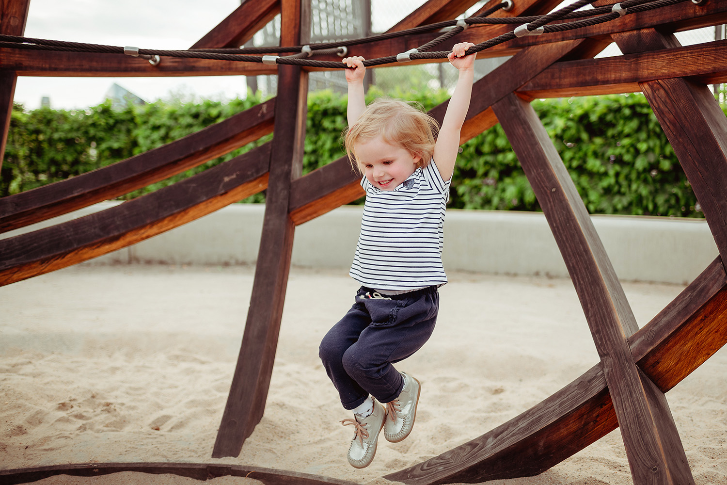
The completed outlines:
[[[380,95],[375,89],[369,100]],[[446,92],[395,92],[425,108]],[[114,111],[109,103],[85,111],[16,105],[0,175],[0,196],[27,191],[112,164],[260,103],[249,95],[230,103],[153,103]],[[703,217],[671,146],[643,95],[536,100],[535,111],[561,153],[591,213]],[[343,156],[345,96],[316,92],[309,97],[303,172]],[[130,193],[131,199],[231,159],[265,143],[271,135],[219,159]],[[257,194],[247,201],[264,201]],[[497,125],[462,146],[449,207],[539,210],[534,193]]]

